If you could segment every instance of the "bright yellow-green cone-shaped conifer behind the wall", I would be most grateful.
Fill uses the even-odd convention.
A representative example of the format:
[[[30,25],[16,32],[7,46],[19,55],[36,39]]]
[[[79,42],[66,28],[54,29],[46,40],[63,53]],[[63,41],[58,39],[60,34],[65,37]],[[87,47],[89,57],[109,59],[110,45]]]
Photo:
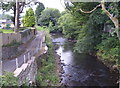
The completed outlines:
[[[35,25],[35,15],[32,8],[29,8],[28,11],[26,11],[25,17],[24,17],[24,26],[25,27],[33,27]]]

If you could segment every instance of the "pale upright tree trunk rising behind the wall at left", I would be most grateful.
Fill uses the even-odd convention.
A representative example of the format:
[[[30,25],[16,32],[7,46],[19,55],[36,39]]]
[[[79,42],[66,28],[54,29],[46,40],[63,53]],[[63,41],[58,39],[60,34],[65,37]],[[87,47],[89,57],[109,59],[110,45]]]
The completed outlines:
[[[19,29],[19,2],[16,0],[16,15],[15,15],[15,28],[14,31],[18,32]]]

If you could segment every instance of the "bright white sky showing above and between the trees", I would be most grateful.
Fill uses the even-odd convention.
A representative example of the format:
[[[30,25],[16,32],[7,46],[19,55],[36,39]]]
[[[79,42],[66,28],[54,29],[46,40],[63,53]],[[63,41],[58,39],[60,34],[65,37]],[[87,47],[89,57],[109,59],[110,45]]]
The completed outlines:
[[[64,4],[63,4],[63,0],[38,0],[39,2],[42,2],[44,4],[45,7],[48,8],[57,8],[60,12],[64,11]],[[37,6],[33,6],[33,10],[35,11]],[[28,10],[29,8],[25,8],[23,10],[22,15],[25,14],[26,10]],[[2,10],[0,10],[0,13],[2,13]],[[13,11],[9,11],[6,14],[11,14],[12,15]]]

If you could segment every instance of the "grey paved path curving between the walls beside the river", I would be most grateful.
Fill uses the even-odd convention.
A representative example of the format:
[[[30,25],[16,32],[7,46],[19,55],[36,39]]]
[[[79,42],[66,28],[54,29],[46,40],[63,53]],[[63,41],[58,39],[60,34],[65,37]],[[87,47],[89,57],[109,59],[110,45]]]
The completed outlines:
[[[26,61],[30,59],[29,57],[34,56],[40,49],[41,39],[43,32],[37,32],[35,39],[33,39],[28,45],[26,51],[18,56],[18,67],[20,67],[24,63],[24,57]],[[3,71],[13,72],[16,69],[16,58],[12,60],[4,60],[3,61]]]

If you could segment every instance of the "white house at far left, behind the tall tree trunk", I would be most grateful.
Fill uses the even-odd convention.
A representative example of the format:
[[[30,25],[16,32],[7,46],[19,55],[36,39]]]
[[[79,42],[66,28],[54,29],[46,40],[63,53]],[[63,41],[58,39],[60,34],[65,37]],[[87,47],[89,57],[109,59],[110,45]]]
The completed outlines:
[[[11,29],[14,27],[14,23],[9,19],[0,20],[0,29]]]

